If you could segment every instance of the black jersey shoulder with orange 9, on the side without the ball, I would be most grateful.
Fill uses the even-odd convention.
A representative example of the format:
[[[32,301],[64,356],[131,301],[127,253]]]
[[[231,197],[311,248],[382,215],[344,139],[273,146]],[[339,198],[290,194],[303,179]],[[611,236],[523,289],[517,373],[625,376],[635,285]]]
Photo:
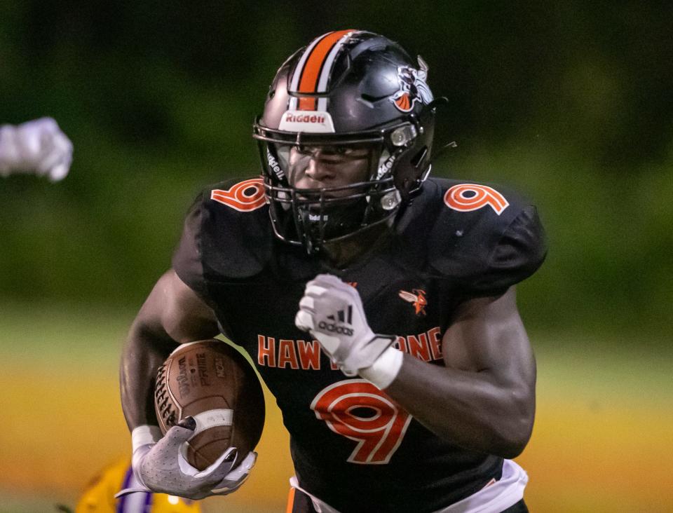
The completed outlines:
[[[475,294],[498,294],[541,266],[545,234],[536,207],[501,186],[433,179],[442,203],[429,263]]]

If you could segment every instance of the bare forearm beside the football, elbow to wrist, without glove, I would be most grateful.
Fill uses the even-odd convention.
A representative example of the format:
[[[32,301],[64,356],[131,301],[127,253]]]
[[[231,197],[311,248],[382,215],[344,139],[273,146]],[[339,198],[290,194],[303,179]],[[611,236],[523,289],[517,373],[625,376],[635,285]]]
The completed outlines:
[[[158,425],[154,413],[154,380],[157,369],[175,348],[168,335],[135,322],[125,343],[120,366],[121,405],[129,430]]]

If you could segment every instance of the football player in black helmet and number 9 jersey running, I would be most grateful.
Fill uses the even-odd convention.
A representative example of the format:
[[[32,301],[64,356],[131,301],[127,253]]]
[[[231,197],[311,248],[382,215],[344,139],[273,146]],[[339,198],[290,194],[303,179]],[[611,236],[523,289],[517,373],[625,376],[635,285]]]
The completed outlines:
[[[254,454],[197,472],[179,449],[194,423],[156,427],[156,369],[222,332],[283,412],[289,510],[526,511],[510,458],[531,435],[536,369],[515,284],[542,264],[543,228],[512,191],[428,178],[427,78],[420,57],[359,30],[280,67],[254,124],[261,177],[196,198],[123,350],[143,486],[202,498],[252,469]]]

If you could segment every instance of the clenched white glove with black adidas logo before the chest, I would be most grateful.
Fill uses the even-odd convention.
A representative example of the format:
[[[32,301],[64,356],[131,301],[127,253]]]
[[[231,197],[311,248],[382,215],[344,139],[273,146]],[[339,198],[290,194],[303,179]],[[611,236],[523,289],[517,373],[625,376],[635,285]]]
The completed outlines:
[[[329,274],[306,284],[294,324],[310,331],[346,376],[371,367],[395,341],[395,336],[374,334],[358,291]]]

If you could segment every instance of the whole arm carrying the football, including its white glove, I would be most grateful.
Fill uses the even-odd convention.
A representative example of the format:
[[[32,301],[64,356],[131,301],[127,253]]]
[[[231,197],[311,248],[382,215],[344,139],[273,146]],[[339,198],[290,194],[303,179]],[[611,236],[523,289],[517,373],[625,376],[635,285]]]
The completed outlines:
[[[250,474],[257,455],[236,455],[230,448],[203,471],[186,462],[180,447],[196,428],[185,419],[164,437],[154,413],[154,378],[158,367],[179,343],[219,333],[215,314],[198,294],[168,271],[156,283],[132,324],[121,357],[121,402],[131,430],[132,468],[137,491],[169,493],[190,499],[226,495]]]

